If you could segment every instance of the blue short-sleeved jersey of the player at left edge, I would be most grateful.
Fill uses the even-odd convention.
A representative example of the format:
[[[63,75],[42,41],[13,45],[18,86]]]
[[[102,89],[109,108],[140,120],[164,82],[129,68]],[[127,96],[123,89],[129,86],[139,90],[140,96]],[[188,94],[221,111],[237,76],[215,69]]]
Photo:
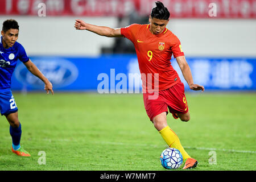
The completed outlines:
[[[15,42],[13,47],[3,48],[3,38],[0,39],[0,90],[11,88],[13,75],[18,59],[23,63],[29,60],[24,47]]]

